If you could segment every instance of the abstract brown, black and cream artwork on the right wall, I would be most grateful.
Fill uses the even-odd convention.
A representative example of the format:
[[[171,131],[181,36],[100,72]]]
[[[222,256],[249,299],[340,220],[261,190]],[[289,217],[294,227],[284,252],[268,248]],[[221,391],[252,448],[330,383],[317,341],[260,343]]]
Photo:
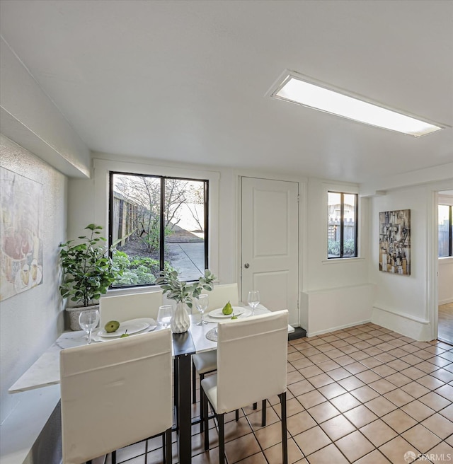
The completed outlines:
[[[379,270],[411,275],[411,210],[379,213]]]

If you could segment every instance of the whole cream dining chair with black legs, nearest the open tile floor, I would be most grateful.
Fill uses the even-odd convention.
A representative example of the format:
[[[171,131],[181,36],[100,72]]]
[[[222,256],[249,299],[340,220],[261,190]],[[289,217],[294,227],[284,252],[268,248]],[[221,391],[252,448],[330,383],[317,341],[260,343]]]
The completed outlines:
[[[224,414],[280,397],[282,463],[287,464],[287,337],[288,311],[228,320],[217,327],[217,373],[201,381],[205,421],[205,450],[209,449],[207,406],[210,403],[219,426],[219,464],[225,460]],[[236,414],[236,420],[238,420]]]

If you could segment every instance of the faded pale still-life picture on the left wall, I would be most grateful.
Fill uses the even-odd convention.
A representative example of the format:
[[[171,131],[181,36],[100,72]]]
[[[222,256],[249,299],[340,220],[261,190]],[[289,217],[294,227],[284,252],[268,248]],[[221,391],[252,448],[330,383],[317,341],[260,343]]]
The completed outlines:
[[[0,301],[42,284],[42,184],[0,167]]]

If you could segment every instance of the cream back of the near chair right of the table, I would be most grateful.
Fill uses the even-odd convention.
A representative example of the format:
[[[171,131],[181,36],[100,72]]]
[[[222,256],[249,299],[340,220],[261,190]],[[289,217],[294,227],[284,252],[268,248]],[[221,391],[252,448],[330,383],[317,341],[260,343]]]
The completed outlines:
[[[286,391],[287,310],[229,320],[217,333],[217,412]]]

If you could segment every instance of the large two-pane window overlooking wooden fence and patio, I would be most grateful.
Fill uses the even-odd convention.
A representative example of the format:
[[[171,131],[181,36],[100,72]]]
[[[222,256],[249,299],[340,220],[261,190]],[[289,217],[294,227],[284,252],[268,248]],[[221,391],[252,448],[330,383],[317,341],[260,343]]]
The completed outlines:
[[[110,172],[109,243],[122,276],[154,285],[162,269],[195,280],[208,267],[208,180]]]

